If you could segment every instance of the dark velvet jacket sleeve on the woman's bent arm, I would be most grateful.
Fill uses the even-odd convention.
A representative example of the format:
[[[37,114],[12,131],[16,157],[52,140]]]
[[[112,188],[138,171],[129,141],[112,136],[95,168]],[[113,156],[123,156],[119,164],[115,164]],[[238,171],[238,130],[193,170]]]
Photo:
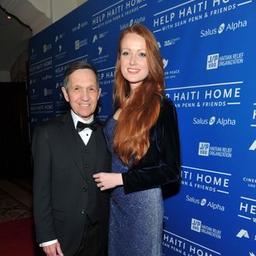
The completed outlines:
[[[160,116],[150,131],[150,148],[144,159],[122,174],[125,193],[152,189],[180,177],[180,143],[175,106],[164,99]]]

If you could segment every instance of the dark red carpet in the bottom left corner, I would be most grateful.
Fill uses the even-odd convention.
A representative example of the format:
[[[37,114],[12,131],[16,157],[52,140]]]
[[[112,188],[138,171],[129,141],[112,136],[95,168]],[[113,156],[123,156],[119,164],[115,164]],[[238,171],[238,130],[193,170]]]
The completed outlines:
[[[0,224],[0,255],[43,255],[42,249],[35,241],[32,217]]]

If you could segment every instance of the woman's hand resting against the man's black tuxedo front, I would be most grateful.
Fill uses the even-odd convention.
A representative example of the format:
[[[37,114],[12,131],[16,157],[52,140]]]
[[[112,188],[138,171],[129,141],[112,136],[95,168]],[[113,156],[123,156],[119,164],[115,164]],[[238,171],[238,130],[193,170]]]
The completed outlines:
[[[101,191],[123,185],[123,178],[120,173],[99,172],[93,175],[93,178]]]

